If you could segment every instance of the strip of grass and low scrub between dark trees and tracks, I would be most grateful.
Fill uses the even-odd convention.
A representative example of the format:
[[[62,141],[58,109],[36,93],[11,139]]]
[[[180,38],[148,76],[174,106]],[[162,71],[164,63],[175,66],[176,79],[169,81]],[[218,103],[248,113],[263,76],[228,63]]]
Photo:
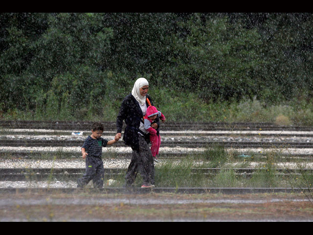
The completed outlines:
[[[279,100],[276,103],[253,99],[240,101],[201,101],[196,94],[172,94],[171,91],[151,90],[156,107],[165,115],[168,121],[197,121],[197,122],[270,122],[278,125],[307,125],[313,126],[313,102],[311,100]],[[164,95],[168,99],[164,99]],[[94,111],[84,110],[68,113],[67,110],[52,112],[48,110],[18,110],[7,112],[0,110],[3,120],[98,120],[115,121],[122,100],[99,105]],[[175,104],[175,105],[173,105]],[[48,107],[43,106],[43,109]],[[54,107],[51,107],[52,109]],[[61,107],[62,108],[62,107]],[[66,114],[66,115],[64,115]]]

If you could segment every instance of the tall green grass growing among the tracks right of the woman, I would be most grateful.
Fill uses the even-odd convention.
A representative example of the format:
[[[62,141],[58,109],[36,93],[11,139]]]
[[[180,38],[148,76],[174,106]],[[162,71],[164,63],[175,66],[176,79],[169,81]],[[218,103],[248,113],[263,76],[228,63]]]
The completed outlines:
[[[312,174],[299,177],[287,177],[277,170],[278,163],[275,153],[267,153],[262,156],[249,155],[249,158],[238,157],[238,153],[227,153],[222,147],[208,148],[202,156],[195,159],[188,156],[181,159],[162,160],[156,164],[156,187],[159,188],[312,188]],[[284,160],[283,160],[284,161]],[[288,160],[287,163],[289,163]],[[250,164],[255,164],[251,167]],[[297,160],[296,164],[305,164],[306,160]],[[299,166],[300,167],[300,166]],[[194,174],[194,168],[220,168],[217,174]],[[235,168],[255,168],[253,174],[237,174]],[[126,172],[126,170],[125,170]],[[117,178],[116,183],[110,187],[122,187],[125,183],[125,174]],[[142,178],[138,174],[135,187],[140,187]],[[300,187],[300,188],[301,188]],[[312,193],[309,196],[312,198]]]

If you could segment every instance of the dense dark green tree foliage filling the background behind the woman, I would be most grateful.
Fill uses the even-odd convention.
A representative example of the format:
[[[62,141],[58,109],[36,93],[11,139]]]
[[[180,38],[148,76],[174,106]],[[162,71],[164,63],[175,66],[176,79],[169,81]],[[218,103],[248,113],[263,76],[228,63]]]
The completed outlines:
[[[310,100],[312,25],[312,13],[0,13],[0,115],[100,117],[138,77],[159,103]]]

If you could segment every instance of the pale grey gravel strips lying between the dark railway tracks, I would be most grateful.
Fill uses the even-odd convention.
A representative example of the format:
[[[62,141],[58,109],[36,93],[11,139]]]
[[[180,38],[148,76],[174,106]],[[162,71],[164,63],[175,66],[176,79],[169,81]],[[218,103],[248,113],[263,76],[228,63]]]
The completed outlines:
[[[8,130],[6,130],[7,133]],[[12,134],[8,135],[0,135],[0,140],[79,140],[84,141],[87,137],[87,133],[84,135],[74,135],[72,131],[62,131],[62,133],[66,133],[66,135],[58,135],[53,130],[25,130],[25,129],[14,129],[9,130]],[[24,133],[36,133],[36,135],[27,135]],[[23,133],[23,134],[19,134]],[[162,141],[260,141],[260,139],[264,142],[313,142],[313,137],[306,136],[300,137],[298,135],[304,134],[313,134],[311,132],[292,132],[294,136],[286,137],[279,136],[279,134],[290,134],[289,132],[265,132],[265,131],[233,131],[233,132],[204,132],[198,131],[197,135],[193,135],[192,131],[182,131],[182,132],[161,132]],[[270,135],[270,134],[273,135]],[[82,133],[81,133],[82,134]],[[219,134],[219,135],[217,135]],[[222,136],[220,134],[227,134],[227,136]],[[238,135],[241,134],[241,135]],[[275,134],[275,135],[274,135]],[[114,133],[109,133],[108,135],[104,135],[103,138],[112,140],[114,138]],[[160,148],[160,156],[162,153],[169,152],[201,152],[204,151],[204,148],[181,148],[181,147],[161,147]],[[248,152],[267,152],[272,151],[270,149],[229,149],[228,151],[238,151],[240,153],[248,153]],[[80,152],[80,147],[4,147],[0,146],[0,152],[54,152],[54,151],[64,151],[64,152]],[[280,153],[301,153],[301,154],[313,154],[313,149],[278,149]],[[103,152],[116,152],[116,153],[131,153],[132,150],[130,147],[114,147],[113,145],[110,147],[103,148]],[[130,163],[130,159],[104,159],[104,167],[105,168],[127,168]],[[161,164],[161,163],[158,163]],[[251,163],[253,167],[254,163]],[[259,164],[259,163],[258,163]],[[281,165],[284,167],[283,165]],[[285,165],[286,166],[286,165]],[[312,167],[311,165],[309,165]],[[84,159],[66,159],[66,160],[31,160],[31,159],[0,159],[0,168],[85,168],[85,160]],[[294,167],[292,163],[289,163],[287,167]],[[34,182],[34,181],[0,181],[0,188],[47,188],[47,187],[56,187],[56,188],[75,188],[76,182],[67,181],[51,181],[51,182]],[[92,186],[90,186],[92,187]]]

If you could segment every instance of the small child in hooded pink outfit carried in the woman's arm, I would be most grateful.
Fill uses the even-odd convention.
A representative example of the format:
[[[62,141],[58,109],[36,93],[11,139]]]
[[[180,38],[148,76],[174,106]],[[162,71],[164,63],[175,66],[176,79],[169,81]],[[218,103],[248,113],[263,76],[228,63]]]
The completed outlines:
[[[146,116],[144,117],[144,126],[146,131],[150,133],[151,153],[155,162],[158,162],[156,155],[158,155],[158,150],[160,148],[161,137],[159,135],[158,129],[156,130],[152,128],[151,124],[157,117],[159,117],[162,122],[165,121],[164,115],[160,111],[157,111],[155,106],[148,106]]]

